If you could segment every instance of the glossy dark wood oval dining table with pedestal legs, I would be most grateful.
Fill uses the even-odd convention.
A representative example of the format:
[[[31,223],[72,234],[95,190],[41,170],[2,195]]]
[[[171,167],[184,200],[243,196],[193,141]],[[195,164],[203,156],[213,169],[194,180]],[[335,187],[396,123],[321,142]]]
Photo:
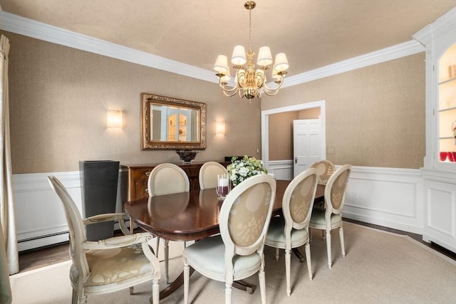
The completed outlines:
[[[276,199],[272,216],[281,214],[282,198],[291,181],[276,180]],[[324,186],[318,185],[314,204],[324,201]],[[218,234],[219,212],[223,200],[215,188],[199,189],[160,196],[150,196],[125,203],[125,212],[145,231],[168,241],[198,241]],[[299,251],[294,251],[299,256]],[[183,267],[182,267],[183,268]],[[166,298],[183,285],[183,272],[175,281],[160,291],[160,299]],[[244,285],[238,285],[244,290]]]

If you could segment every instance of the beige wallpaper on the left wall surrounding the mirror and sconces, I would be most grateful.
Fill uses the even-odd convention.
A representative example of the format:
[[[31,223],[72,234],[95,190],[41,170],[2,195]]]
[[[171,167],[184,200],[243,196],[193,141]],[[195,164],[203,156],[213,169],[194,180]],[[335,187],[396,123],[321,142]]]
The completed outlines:
[[[76,171],[80,160],[180,162],[174,151],[140,150],[143,92],[207,103],[207,149],[195,161],[261,156],[259,100],[227,98],[216,83],[3,33],[11,43],[14,174]],[[123,110],[123,130],[106,129],[108,109]],[[215,135],[218,120],[225,122],[224,136]]]

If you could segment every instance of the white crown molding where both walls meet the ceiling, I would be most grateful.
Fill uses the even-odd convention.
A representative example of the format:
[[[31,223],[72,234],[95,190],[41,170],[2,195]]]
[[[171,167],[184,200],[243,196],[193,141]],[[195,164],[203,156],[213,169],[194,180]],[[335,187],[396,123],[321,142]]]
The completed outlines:
[[[46,23],[10,14],[6,11],[0,11],[0,19],[0,29],[4,31],[18,33],[31,38],[76,48],[82,51],[88,51],[90,53],[96,53],[102,56],[116,58],[122,61],[145,65],[150,68],[157,68],[159,70],[165,70],[170,73],[197,78],[211,83],[218,83],[218,80],[214,77],[212,70],[197,68],[193,65],[172,61],[170,59],[138,51],[133,48],[127,48],[108,41],[81,35],[63,28],[58,28]],[[340,61],[338,63],[333,63],[331,65],[326,65],[321,68],[316,68],[305,73],[291,76],[286,78],[282,88],[307,83],[312,80],[325,78],[339,73],[345,73],[358,68],[364,68],[368,65],[374,65],[410,56],[423,51],[425,51],[425,48],[417,41],[407,41],[395,46],[383,48],[379,51],[354,57],[346,61]]]

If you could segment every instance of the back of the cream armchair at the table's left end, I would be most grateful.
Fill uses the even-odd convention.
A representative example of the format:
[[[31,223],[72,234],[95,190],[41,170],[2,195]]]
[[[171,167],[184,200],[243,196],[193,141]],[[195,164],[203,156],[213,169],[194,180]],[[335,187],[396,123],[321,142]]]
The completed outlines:
[[[81,213],[66,188],[56,177],[48,177],[48,182],[63,204],[66,221],[68,222],[71,261],[78,269],[80,278],[86,278],[89,274],[88,263],[81,244],[87,238]]]

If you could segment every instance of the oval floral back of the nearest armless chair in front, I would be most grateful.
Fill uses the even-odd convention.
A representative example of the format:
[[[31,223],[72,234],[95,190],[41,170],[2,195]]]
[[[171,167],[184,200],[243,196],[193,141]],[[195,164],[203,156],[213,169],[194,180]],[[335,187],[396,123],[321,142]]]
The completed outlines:
[[[226,254],[248,256],[263,251],[275,197],[276,181],[268,174],[249,177],[229,192],[219,215]],[[231,258],[225,261],[231,263]]]

